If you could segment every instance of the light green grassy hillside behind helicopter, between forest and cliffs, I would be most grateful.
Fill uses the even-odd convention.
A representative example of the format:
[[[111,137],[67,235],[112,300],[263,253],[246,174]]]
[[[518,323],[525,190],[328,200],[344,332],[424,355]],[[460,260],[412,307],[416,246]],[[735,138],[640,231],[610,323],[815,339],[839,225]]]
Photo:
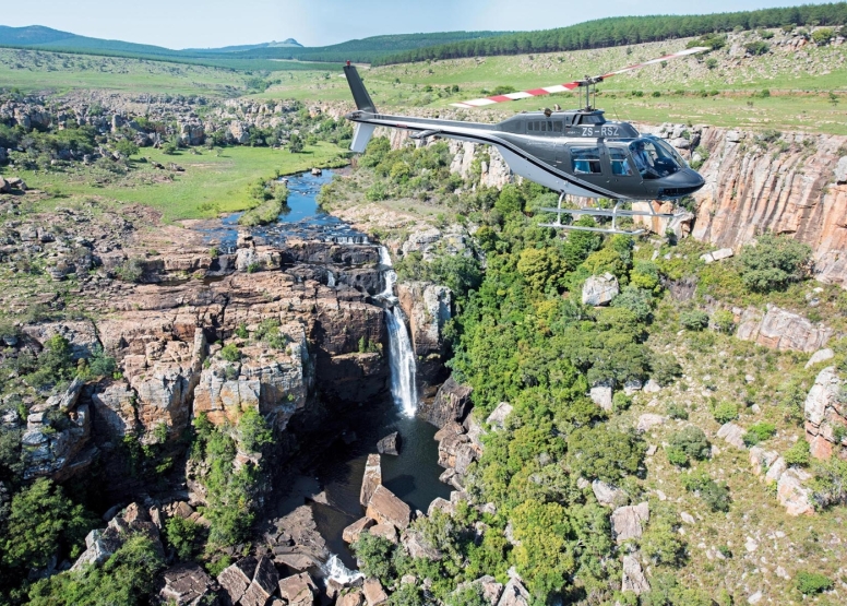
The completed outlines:
[[[747,56],[744,45],[761,41],[762,36],[742,32],[730,34],[724,48],[707,56],[669,61],[609,79],[599,87],[597,104],[609,116],[627,120],[847,133],[847,45],[807,44],[798,50],[774,44],[782,35],[775,31],[775,37],[768,40],[771,50],[761,56]],[[456,111],[450,108],[451,103],[488,94],[498,86],[524,90],[559,84],[586,73],[605,73],[660,57],[694,40],[405,63],[361,73],[382,110]],[[259,96],[348,100],[349,90],[343,78],[327,80],[303,72]],[[494,121],[514,111],[554,104],[581,105],[576,94],[565,93],[458,115]]]

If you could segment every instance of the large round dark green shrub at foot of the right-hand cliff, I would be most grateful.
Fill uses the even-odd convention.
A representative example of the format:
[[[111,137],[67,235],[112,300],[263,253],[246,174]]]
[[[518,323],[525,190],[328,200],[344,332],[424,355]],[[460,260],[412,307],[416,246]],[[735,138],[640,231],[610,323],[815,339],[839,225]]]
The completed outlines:
[[[755,246],[745,246],[740,256],[741,278],[757,293],[785,288],[802,280],[808,271],[812,249],[787,236],[765,234]]]

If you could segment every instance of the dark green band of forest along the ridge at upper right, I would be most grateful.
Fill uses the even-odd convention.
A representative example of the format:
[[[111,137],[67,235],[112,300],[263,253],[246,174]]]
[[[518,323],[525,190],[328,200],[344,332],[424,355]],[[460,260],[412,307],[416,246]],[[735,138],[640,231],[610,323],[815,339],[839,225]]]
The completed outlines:
[[[406,50],[382,57],[375,60],[374,64],[581,50],[687,38],[713,32],[756,29],[760,27],[785,26],[794,28],[796,26],[844,25],[845,23],[847,23],[847,2],[705,15],[621,16],[578,23],[556,29],[520,32],[506,36]]]

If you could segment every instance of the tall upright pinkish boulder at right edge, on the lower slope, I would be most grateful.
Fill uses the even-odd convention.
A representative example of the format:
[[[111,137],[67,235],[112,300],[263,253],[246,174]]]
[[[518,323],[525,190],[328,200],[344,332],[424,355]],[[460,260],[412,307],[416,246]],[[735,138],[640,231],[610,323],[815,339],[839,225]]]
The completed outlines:
[[[847,445],[844,390],[845,382],[831,366],[821,370],[806,397],[806,439],[815,459],[828,459],[836,445]]]

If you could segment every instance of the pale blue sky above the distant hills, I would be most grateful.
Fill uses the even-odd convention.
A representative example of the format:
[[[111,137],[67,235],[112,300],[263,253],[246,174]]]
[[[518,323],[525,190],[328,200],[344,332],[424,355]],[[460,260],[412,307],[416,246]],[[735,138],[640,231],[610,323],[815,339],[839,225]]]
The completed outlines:
[[[549,29],[606,16],[702,13],[822,3],[711,0],[38,0],[12,2],[0,25],[46,25],[95,38],[167,48],[208,48],[295,38],[324,46],[381,34]],[[690,7],[690,9],[689,9]]]

